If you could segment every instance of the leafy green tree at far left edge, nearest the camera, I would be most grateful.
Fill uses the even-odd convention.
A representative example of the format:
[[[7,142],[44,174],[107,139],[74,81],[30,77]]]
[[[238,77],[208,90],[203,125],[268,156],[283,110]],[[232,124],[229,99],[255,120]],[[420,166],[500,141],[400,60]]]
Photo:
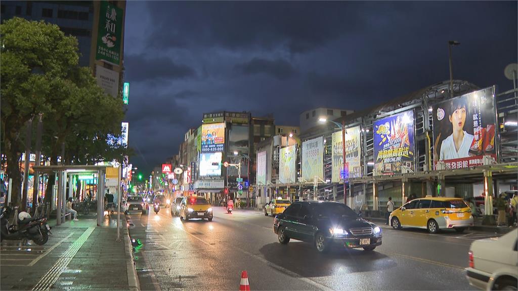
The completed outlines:
[[[0,90],[2,95],[2,148],[7,174],[12,179],[13,205],[19,205],[22,132],[36,114],[52,110],[52,88],[77,67],[77,39],[57,25],[13,18],[0,24]],[[53,86],[54,85],[54,86]],[[22,135],[23,136],[23,135]]]

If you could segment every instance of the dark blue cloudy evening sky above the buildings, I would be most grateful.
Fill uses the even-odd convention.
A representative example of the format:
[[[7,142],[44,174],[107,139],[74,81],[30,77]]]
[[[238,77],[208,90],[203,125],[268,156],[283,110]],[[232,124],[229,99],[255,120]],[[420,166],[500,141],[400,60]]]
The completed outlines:
[[[362,109],[454,78],[512,89],[513,2],[127,2],[134,165],[178,153],[204,112],[298,125],[310,108]]]

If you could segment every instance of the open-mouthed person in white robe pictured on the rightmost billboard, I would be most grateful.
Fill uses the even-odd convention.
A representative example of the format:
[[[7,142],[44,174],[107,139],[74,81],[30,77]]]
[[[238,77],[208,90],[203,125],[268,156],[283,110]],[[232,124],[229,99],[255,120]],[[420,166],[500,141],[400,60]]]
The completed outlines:
[[[455,98],[451,101],[451,114],[449,115],[449,119],[452,124],[453,133],[441,143],[440,161],[469,156],[473,135],[468,134],[466,130],[464,130],[466,115],[468,113],[467,108],[465,98]],[[442,114],[444,114],[444,112],[442,112]]]

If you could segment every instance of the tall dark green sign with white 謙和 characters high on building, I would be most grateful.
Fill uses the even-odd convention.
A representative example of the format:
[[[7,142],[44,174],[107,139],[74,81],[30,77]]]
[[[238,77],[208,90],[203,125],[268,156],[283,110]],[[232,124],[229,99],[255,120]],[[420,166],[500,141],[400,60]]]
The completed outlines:
[[[123,10],[108,1],[100,2],[95,60],[120,66]]]

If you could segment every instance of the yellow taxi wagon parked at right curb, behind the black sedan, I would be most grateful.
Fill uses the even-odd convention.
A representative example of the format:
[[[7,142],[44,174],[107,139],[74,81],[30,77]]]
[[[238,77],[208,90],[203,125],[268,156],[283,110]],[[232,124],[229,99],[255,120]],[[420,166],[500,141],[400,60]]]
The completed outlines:
[[[453,228],[463,232],[473,226],[471,209],[462,198],[424,197],[414,199],[392,211],[389,216],[394,229],[401,227],[426,228],[431,234],[440,229]]]

